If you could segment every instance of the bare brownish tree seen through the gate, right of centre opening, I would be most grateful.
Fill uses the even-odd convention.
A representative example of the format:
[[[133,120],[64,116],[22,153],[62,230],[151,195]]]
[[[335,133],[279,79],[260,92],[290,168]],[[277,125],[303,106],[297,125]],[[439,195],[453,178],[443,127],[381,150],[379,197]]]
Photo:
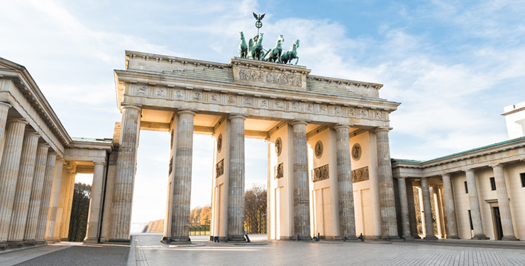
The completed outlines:
[[[244,227],[250,233],[266,232],[266,194],[255,184],[244,194]]]

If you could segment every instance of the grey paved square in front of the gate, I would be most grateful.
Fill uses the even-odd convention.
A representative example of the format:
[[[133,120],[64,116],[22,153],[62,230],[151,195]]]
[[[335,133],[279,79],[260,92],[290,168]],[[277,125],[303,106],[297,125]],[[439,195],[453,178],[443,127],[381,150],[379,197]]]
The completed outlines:
[[[268,241],[192,245],[160,243],[162,234],[133,234],[130,245],[60,243],[0,253],[0,265],[525,265],[525,241]]]

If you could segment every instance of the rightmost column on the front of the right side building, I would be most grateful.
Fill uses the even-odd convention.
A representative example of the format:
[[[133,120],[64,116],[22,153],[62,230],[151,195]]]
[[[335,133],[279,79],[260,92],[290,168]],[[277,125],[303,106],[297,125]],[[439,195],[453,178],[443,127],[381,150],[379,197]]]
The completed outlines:
[[[517,239],[516,236],[514,236],[514,226],[512,225],[509,195],[507,194],[507,184],[505,183],[503,166],[498,163],[494,164],[491,167],[492,170],[494,170],[494,180],[496,181],[497,206],[499,207],[499,214],[502,220],[502,240],[517,241],[519,239]]]

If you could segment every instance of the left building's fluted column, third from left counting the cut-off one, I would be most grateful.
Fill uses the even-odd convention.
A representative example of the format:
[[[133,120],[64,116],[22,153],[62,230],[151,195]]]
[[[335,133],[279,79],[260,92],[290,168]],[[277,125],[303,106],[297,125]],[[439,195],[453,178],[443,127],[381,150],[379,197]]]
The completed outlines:
[[[20,247],[23,244],[23,233],[26,230],[29,199],[31,197],[31,185],[33,185],[33,174],[35,173],[38,138],[40,138],[40,135],[36,132],[26,132],[23,137],[18,181],[13,202],[13,214],[11,214],[11,225],[7,238],[8,245],[12,247]]]

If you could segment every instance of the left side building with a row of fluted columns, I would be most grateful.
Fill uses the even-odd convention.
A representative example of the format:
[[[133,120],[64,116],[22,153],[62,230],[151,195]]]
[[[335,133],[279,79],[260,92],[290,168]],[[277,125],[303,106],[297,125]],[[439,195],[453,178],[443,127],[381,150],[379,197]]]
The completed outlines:
[[[0,58],[0,249],[65,241],[77,173],[93,173],[90,241],[98,241],[111,139],[72,138],[19,64]]]

